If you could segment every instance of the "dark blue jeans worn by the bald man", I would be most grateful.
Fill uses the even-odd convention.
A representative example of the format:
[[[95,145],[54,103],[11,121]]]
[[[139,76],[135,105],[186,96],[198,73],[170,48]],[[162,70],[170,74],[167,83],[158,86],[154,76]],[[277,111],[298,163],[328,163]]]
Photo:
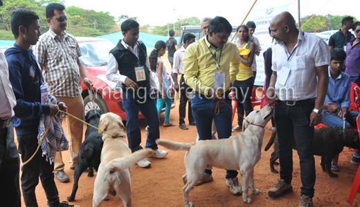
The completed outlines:
[[[280,177],[287,184],[291,183],[293,172],[292,143],[296,139],[296,148],[300,158],[300,175],[303,187],[300,193],[314,197],[315,159],[314,159],[314,127],[310,127],[310,114],[314,108],[314,100],[296,101],[296,105],[288,106],[285,101],[275,105],[276,132],[279,141]]]

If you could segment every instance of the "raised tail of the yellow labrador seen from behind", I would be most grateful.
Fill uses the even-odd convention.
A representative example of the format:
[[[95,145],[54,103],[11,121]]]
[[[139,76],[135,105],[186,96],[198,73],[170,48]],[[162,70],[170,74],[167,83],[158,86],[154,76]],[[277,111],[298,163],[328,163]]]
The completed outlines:
[[[144,159],[146,156],[151,155],[152,152],[153,150],[150,148],[144,150],[137,150],[136,152],[133,152],[131,155],[127,155],[126,157],[113,159],[109,161],[108,169],[110,169],[110,171],[116,171],[129,168],[133,164],[136,164],[136,162]]]

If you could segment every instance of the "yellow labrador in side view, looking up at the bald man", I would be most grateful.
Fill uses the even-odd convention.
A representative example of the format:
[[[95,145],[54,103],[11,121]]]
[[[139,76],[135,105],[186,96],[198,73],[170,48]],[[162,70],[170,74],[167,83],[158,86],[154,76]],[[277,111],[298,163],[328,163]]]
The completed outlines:
[[[273,115],[270,105],[262,110],[254,110],[243,121],[242,132],[228,139],[204,140],[193,143],[177,143],[157,139],[156,143],[170,150],[186,150],[186,174],[183,175],[183,201],[186,207],[194,206],[189,201],[189,192],[201,179],[204,170],[212,167],[226,170],[240,170],[242,175],[242,198],[245,203],[251,203],[249,188],[258,195],[255,189],[253,168],[261,159],[264,127]],[[248,122],[249,121],[249,122]]]

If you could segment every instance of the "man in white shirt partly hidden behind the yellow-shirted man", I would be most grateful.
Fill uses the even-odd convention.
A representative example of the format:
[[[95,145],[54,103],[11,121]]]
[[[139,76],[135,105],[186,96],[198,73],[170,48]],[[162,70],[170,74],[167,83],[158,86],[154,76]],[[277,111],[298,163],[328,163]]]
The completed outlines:
[[[180,50],[177,50],[174,53],[174,66],[172,67],[172,74],[174,75],[174,82],[175,82],[175,90],[179,92],[179,83],[177,82],[177,75],[181,75],[180,79],[180,105],[179,105],[179,128],[182,130],[188,130],[188,126],[185,124],[185,117],[186,117],[186,103],[188,104],[188,119],[189,125],[195,126],[195,119],[192,117],[192,110],[191,110],[191,102],[190,97],[188,94],[192,92],[192,88],[186,85],[185,80],[183,79],[183,54],[185,49],[191,44],[195,42],[195,35],[191,33],[186,33],[183,35],[183,46]]]

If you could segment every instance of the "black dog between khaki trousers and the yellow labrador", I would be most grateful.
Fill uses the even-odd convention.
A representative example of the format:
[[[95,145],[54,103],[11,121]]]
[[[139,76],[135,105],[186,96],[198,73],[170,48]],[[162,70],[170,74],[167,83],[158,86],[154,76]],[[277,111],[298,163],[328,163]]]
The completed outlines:
[[[85,121],[92,126],[98,127],[100,115],[102,115],[100,110],[90,110],[87,112],[87,115],[85,115]],[[103,144],[104,141],[102,141],[102,134],[99,135],[99,130],[87,126],[85,141],[80,146],[78,163],[75,166],[73,192],[67,197],[68,201],[75,199],[76,191],[78,190],[78,181],[82,172],[89,168],[87,176],[93,177],[93,168],[98,171]]]

